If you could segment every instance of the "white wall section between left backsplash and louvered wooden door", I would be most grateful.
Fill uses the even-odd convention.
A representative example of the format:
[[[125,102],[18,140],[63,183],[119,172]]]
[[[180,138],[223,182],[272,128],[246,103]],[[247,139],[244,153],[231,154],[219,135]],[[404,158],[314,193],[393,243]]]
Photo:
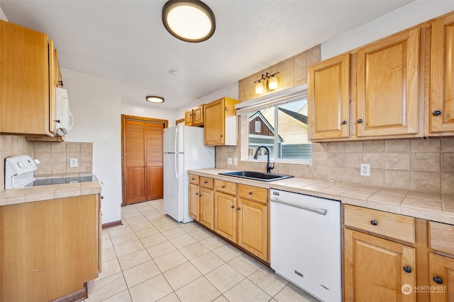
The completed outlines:
[[[121,220],[121,90],[109,79],[61,69],[74,127],[65,141],[93,142],[93,173],[104,182],[102,223]]]

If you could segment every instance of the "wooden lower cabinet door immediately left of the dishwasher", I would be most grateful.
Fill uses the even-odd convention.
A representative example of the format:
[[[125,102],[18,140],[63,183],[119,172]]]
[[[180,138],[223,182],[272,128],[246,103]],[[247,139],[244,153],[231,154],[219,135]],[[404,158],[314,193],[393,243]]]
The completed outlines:
[[[248,199],[238,201],[238,245],[268,262],[268,207]]]

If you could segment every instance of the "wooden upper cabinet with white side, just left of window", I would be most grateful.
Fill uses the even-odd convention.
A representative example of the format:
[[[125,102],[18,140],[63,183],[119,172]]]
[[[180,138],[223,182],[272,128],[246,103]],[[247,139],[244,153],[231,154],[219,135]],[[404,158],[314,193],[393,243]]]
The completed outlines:
[[[206,146],[236,146],[238,100],[221,98],[204,107],[204,144]]]

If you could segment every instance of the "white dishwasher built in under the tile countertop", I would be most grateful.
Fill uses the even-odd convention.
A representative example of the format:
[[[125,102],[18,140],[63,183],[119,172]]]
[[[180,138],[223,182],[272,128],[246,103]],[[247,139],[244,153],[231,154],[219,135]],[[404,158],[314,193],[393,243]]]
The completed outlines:
[[[342,301],[341,202],[270,190],[270,265],[321,301]]]

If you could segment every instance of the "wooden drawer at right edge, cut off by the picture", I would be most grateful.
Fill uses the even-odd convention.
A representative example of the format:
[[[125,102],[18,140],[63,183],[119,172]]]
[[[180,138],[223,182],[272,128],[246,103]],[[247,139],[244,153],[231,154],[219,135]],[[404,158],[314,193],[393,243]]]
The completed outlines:
[[[429,243],[433,250],[454,255],[454,226],[429,221]]]

